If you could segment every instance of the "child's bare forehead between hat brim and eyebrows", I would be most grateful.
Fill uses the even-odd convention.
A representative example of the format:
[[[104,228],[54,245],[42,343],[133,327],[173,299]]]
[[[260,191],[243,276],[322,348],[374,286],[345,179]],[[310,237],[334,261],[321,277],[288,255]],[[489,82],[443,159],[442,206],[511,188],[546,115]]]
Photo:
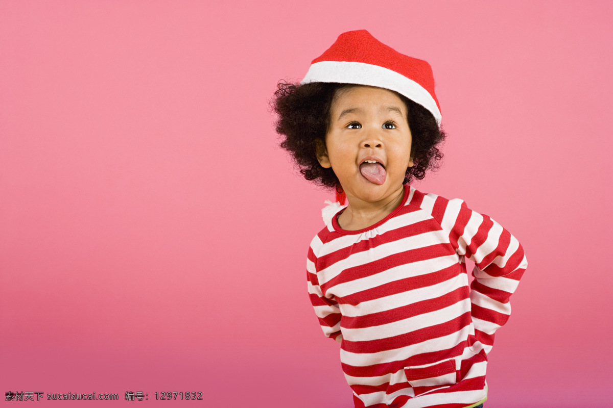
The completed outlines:
[[[375,86],[350,85],[334,94],[331,111],[347,108],[389,108],[396,107],[406,114],[406,105],[396,92]]]

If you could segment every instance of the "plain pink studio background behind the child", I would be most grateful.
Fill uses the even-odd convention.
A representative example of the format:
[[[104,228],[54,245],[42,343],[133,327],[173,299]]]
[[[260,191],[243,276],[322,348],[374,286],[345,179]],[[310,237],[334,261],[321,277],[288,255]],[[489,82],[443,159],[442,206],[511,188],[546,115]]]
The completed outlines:
[[[331,195],[276,147],[267,103],[365,28],[435,72],[449,139],[416,187],[492,215],[528,256],[487,408],[610,406],[612,16],[608,1],[0,1],[2,402],[352,407],[305,281]]]

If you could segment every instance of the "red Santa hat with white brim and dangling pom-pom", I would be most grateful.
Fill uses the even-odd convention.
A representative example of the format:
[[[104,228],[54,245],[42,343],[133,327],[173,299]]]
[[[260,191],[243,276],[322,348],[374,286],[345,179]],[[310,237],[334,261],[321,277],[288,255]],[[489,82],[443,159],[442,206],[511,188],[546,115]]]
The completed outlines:
[[[307,75],[300,83],[311,82],[390,89],[424,106],[432,113],[438,125],[441,124],[441,108],[434,93],[434,76],[430,64],[398,53],[366,30],[348,31],[339,35],[326,52],[311,62]],[[344,193],[337,192],[337,202],[345,204]],[[335,204],[335,209],[340,208]],[[322,210],[324,220],[331,211],[330,206]]]

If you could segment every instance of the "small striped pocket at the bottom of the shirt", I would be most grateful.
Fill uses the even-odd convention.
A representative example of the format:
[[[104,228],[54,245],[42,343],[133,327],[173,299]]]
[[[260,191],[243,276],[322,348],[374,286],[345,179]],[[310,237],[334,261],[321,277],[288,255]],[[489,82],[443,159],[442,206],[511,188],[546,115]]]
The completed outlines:
[[[405,367],[406,380],[413,387],[415,396],[438,388],[449,387],[457,382],[455,359],[442,362]]]

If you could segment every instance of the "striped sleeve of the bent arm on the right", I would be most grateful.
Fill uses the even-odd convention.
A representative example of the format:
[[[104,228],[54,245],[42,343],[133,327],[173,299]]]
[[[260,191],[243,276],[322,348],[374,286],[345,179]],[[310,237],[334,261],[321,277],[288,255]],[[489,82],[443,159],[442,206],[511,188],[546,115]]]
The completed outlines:
[[[509,319],[509,298],[527,267],[524,249],[500,224],[468,209],[465,202],[451,200],[449,207],[457,214],[449,239],[459,256],[474,262],[471,314],[475,336],[489,353],[494,333]]]

